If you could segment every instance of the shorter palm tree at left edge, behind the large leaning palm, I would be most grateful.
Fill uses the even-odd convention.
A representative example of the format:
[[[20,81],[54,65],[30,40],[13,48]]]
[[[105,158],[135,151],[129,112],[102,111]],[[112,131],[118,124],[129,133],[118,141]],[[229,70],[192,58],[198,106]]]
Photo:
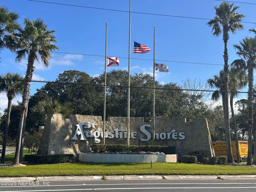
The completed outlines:
[[[0,93],[6,92],[6,95],[8,98],[6,124],[4,129],[4,138],[3,138],[3,150],[2,150],[2,156],[1,156],[2,163],[4,162],[4,158],[5,158],[6,142],[8,137],[9,125],[10,125],[10,114],[12,110],[12,100],[17,94],[22,93],[22,89],[23,89],[23,82],[21,81],[22,79],[23,77],[21,77],[19,74],[6,73],[5,75],[0,75]]]

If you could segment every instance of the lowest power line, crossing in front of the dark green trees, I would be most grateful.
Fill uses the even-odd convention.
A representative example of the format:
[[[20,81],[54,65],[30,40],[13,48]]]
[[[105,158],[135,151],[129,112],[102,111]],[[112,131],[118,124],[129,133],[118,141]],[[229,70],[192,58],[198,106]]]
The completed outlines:
[[[92,84],[92,83],[73,83],[73,82],[54,82],[54,81],[42,81],[42,80],[25,80],[25,79],[8,79],[0,78],[0,80],[6,81],[22,81],[22,82],[35,82],[35,83],[53,83],[53,84],[65,84],[65,85],[86,85],[86,86],[101,86],[101,84]],[[106,85],[106,87],[118,87],[118,88],[128,88],[127,85]],[[201,91],[201,92],[215,92],[216,90],[200,90],[200,89],[182,89],[182,88],[164,88],[164,87],[145,87],[145,86],[130,86],[131,89],[155,89],[155,90],[169,90],[169,91]],[[219,91],[220,93],[246,93],[250,92],[244,91]],[[254,92],[253,92],[254,94]]]

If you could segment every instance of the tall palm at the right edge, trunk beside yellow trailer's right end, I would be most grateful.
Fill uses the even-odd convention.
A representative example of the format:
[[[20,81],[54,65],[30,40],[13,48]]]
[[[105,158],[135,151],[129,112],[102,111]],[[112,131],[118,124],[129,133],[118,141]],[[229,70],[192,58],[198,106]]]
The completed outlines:
[[[256,38],[244,38],[239,45],[234,45],[237,55],[242,59],[237,59],[231,63],[238,69],[247,70],[248,77],[248,157],[247,165],[252,165],[252,129],[253,129],[253,69],[256,68]],[[255,141],[256,137],[254,137]],[[254,147],[256,142],[254,142]],[[253,164],[256,164],[256,154],[253,157]]]

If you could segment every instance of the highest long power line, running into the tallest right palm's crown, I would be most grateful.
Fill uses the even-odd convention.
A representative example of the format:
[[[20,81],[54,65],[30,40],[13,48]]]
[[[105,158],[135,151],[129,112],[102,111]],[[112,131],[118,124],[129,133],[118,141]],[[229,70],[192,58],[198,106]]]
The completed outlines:
[[[82,8],[86,8],[86,9],[96,9],[96,10],[105,10],[105,11],[116,11],[116,12],[125,12],[125,13],[129,13],[129,11],[125,11],[125,10],[106,9],[106,8],[92,7],[92,6],[74,5],[74,4],[66,4],[66,3],[54,3],[54,2],[37,1],[37,0],[27,0],[27,1],[30,1],[30,2],[38,2],[38,3],[47,3],[47,4],[55,4],[55,5],[73,6],[73,7],[82,7]],[[169,15],[169,14],[147,13],[147,12],[134,12],[134,11],[132,11],[131,13],[146,14],[146,15],[156,15],[156,16],[163,16],[163,17],[183,18],[183,19],[211,20],[211,19],[209,19],[209,18],[187,17],[187,16],[182,16],[182,15]],[[242,22],[243,22],[243,23],[256,24],[256,22],[248,22],[248,21],[242,21]]]

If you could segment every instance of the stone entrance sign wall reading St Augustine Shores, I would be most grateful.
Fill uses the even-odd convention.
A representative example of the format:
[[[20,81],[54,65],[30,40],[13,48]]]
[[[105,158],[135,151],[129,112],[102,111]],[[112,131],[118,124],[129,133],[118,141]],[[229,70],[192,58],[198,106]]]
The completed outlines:
[[[155,140],[151,122],[130,118],[130,145],[175,146],[179,155],[201,153],[213,156],[209,127],[205,118],[186,122],[185,118],[156,118]],[[38,154],[79,154],[93,143],[103,143],[101,116],[49,115],[39,144]],[[126,145],[127,118],[109,117],[106,121],[106,144]]]

